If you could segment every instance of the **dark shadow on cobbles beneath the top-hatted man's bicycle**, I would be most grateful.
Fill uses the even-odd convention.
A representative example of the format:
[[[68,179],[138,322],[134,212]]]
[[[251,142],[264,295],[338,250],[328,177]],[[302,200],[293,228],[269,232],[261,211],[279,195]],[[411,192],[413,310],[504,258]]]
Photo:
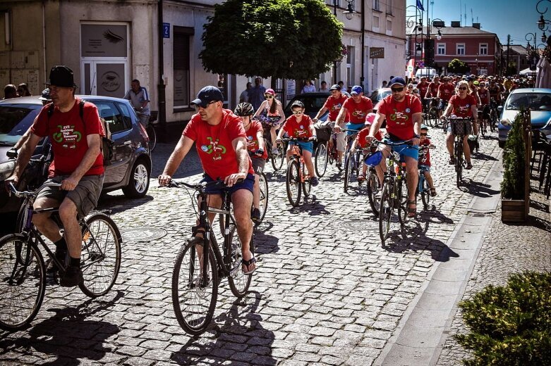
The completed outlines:
[[[112,351],[104,348],[104,341],[121,329],[108,322],[86,318],[109,310],[124,296],[123,291],[113,294],[116,295],[109,301],[90,299],[75,308],[50,308],[48,311],[56,315],[30,327],[28,336],[15,340],[9,334],[0,336],[0,349],[23,355],[32,349],[33,352],[49,355],[49,359],[41,365],[80,365],[82,359],[92,363],[101,360]]]

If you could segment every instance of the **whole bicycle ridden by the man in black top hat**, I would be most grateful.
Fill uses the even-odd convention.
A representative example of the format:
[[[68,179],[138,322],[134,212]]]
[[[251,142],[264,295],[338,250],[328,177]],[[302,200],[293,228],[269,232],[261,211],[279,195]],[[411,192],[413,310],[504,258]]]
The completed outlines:
[[[32,215],[52,213],[52,218],[61,227],[59,208],[32,208],[37,194],[44,187],[61,187],[61,184],[42,184],[35,191],[18,191],[13,184],[9,184],[10,191],[23,198],[24,214],[21,232],[0,239],[0,329],[8,332],[27,327],[42,305],[47,277],[39,246],[59,269],[59,278],[65,274],[67,256],[61,263],[42,239],[42,234],[32,225]],[[86,296],[97,298],[109,292],[119,275],[123,239],[115,222],[103,212],[95,211],[80,218],[79,225],[83,234],[80,256],[83,282],[78,287]],[[56,280],[59,278],[54,277]]]

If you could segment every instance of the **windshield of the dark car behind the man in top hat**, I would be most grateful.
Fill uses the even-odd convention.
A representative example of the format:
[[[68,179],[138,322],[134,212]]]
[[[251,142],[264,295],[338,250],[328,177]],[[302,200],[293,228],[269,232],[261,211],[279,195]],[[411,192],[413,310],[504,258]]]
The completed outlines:
[[[0,144],[15,145],[42,106],[0,106]]]

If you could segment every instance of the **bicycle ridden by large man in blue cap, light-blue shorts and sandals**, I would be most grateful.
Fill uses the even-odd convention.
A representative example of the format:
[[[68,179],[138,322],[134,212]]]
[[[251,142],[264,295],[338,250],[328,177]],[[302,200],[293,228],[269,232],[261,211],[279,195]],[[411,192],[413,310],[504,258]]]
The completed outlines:
[[[387,171],[382,181],[381,198],[379,204],[379,236],[381,244],[384,246],[389,236],[390,224],[394,215],[394,210],[398,210],[398,220],[401,227],[404,227],[408,217],[408,193],[406,184],[406,163],[401,163],[400,154],[394,151],[394,146],[408,145],[411,141],[404,142],[384,142],[374,140],[374,146],[385,144],[390,148],[390,154],[387,158]],[[382,158],[382,152],[380,157]]]

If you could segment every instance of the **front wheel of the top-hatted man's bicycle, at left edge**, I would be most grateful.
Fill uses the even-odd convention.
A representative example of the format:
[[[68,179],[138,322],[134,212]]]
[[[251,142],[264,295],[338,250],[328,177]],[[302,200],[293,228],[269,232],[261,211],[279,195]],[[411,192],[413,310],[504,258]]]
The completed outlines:
[[[42,253],[25,236],[0,239],[0,329],[15,332],[35,319],[46,288]]]

